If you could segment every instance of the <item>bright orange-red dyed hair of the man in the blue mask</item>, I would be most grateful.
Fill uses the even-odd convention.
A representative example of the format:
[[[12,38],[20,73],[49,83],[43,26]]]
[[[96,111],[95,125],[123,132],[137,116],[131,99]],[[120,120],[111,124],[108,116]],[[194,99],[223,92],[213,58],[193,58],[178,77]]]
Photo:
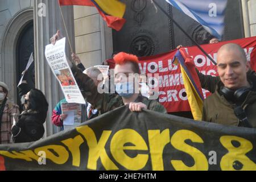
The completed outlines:
[[[126,63],[130,63],[132,65],[132,69],[134,71],[134,73],[141,73],[141,71],[139,70],[139,59],[137,56],[135,55],[131,55],[129,53],[126,52],[119,52],[117,55],[115,55],[113,57],[115,64],[126,64]]]

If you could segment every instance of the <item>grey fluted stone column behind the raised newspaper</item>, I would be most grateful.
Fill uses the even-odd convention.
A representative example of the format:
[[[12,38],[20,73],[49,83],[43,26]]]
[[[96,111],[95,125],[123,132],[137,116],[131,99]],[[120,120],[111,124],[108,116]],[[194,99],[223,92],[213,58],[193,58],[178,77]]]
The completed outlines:
[[[68,29],[69,39],[71,40],[73,51],[75,51],[73,6],[61,6],[61,9]],[[61,34],[67,38],[57,0],[34,0],[34,28],[36,88],[42,90],[49,103],[47,121],[45,124],[45,135],[48,137],[57,131],[57,128],[53,127],[51,122],[52,110],[57,102],[64,98],[59,82],[57,82],[51,72],[46,57],[44,56],[45,47],[50,43],[49,39],[56,33],[56,30],[60,30]],[[71,57],[68,39],[66,43],[66,54]]]

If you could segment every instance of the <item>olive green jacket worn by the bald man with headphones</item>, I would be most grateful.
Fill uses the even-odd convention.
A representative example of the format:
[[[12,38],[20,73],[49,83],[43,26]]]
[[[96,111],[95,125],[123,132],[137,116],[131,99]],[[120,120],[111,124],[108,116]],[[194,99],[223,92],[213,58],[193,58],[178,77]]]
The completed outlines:
[[[252,82],[253,88],[242,103],[248,121],[251,126],[256,128],[256,76],[251,74],[247,79]],[[222,82],[218,82],[216,91],[204,101],[203,121],[220,123],[222,125],[238,126],[239,121],[234,114],[235,104],[226,100],[218,91],[222,86]]]

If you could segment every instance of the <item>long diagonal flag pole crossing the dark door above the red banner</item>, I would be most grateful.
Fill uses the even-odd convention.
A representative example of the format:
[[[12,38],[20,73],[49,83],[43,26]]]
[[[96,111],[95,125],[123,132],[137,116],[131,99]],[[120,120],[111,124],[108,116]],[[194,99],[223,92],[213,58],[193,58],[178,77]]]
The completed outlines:
[[[193,40],[193,39],[191,38],[191,36],[189,36],[188,33],[185,32],[185,31],[183,30],[183,28],[168,14],[155,0],[152,0],[152,1],[155,3],[156,6],[159,7],[159,9],[160,9],[161,11],[163,11],[163,13],[164,13],[170,20],[172,20],[172,22],[174,22],[174,24],[175,24],[175,25],[176,25],[176,26],[194,43],[194,44],[196,44],[196,46],[204,53],[205,56],[207,56],[207,57],[209,58],[210,61],[212,61],[212,63],[213,63],[214,65],[217,65],[217,63],[212,59],[212,57],[210,57],[210,56],[208,55],[208,53],[205,52],[204,49],[203,49],[195,40]]]

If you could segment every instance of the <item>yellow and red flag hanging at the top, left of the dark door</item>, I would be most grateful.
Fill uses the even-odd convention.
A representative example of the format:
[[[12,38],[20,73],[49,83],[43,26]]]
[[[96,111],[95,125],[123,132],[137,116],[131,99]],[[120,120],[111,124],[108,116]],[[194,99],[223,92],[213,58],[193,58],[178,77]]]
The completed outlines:
[[[108,27],[117,31],[121,30],[126,22],[123,18],[126,5],[118,0],[59,0],[59,4],[95,6]]]

